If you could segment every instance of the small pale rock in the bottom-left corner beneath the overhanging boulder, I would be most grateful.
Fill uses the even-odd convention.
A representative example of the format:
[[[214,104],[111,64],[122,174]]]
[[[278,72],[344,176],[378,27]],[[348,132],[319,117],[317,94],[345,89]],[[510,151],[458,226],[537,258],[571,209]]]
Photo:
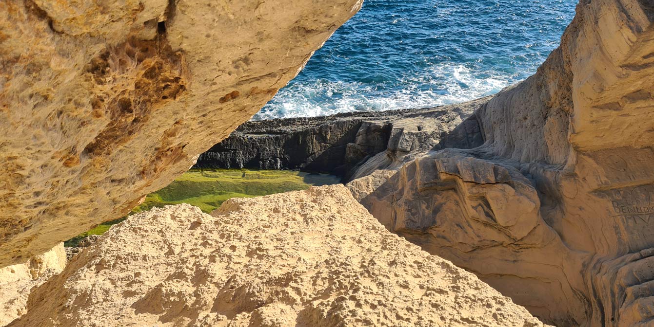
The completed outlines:
[[[27,312],[27,296],[34,287],[60,273],[66,266],[63,243],[24,264],[0,268],[0,326]]]

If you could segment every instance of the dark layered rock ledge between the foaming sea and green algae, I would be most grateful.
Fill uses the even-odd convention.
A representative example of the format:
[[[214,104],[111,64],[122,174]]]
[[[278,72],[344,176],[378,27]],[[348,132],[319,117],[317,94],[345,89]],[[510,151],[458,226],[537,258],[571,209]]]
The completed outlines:
[[[291,169],[358,178],[377,169],[399,168],[412,154],[441,143],[469,142],[470,148],[483,144],[475,120],[466,118],[484,102],[248,121],[201,154],[196,168]]]

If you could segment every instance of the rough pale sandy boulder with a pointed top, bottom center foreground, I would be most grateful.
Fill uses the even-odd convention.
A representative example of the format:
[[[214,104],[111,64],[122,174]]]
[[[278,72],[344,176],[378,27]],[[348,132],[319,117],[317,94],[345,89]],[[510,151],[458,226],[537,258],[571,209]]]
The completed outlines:
[[[213,217],[212,217],[213,216]],[[130,217],[9,326],[542,326],[342,185]]]

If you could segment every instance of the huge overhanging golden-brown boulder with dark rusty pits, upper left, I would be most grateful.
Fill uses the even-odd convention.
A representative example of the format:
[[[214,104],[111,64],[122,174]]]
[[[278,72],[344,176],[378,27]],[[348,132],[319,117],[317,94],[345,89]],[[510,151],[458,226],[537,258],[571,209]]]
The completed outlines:
[[[0,267],[165,187],[361,3],[1,1]]]

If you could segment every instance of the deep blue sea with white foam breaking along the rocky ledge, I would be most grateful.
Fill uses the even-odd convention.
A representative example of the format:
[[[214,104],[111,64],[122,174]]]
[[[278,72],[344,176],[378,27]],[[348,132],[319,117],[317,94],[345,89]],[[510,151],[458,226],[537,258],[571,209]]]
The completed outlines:
[[[534,74],[577,0],[365,0],[254,119],[463,102]]]

